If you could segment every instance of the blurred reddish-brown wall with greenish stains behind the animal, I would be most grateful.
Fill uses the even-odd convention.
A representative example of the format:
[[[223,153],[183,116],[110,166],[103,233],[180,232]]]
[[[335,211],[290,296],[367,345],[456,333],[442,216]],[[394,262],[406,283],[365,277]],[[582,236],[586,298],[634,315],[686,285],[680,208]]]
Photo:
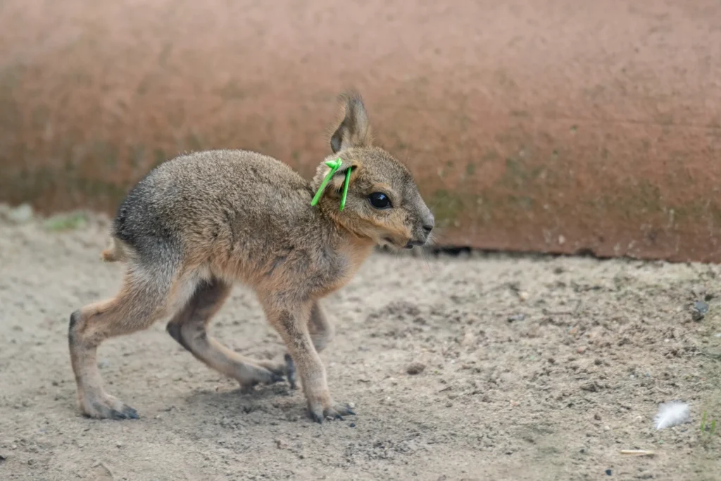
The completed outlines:
[[[366,97],[441,242],[721,260],[715,0],[0,2],[0,200],[112,212],[180,151],[327,154]]]

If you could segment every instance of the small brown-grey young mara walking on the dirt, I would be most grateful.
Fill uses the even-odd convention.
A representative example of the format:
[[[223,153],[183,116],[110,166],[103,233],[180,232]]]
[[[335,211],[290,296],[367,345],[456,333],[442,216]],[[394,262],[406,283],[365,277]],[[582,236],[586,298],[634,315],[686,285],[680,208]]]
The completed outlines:
[[[342,166],[317,206],[329,167],[311,182],[271,157],[249,151],[204,151],[156,167],[118,208],[107,262],[127,264],[115,298],[71,315],[68,340],[79,401],[93,418],[136,418],[107,394],[97,370],[103,340],[170,318],[169,334],[196,358],[245,389],[298,371],[311,417],[322,422],[352,413],[335,402],[318,356],[332,337],[319,300],[341,288],[373,245],[412,247],[428,241],[433,216],[403,164],[371,144],[361,97],[342,97],[343,116],[331,138]],[[327,160],[326,159],[326,160]],[[351,170],[348,200],[340,189]],[[371,205],[387,195],[392,207]],[[210,337],[207,325],[231,286],[253,288],[268,322],[288,349],[286,362],[253,361]]]

